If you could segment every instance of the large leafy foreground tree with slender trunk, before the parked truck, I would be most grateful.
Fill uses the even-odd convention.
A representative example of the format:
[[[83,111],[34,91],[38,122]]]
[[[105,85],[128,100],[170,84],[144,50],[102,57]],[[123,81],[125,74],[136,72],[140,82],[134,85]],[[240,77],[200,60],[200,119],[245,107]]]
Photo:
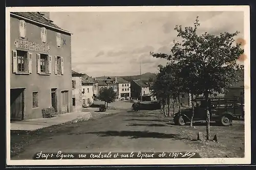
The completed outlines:
[[[211,35],[207,32],[199,35],[197,33],[200,26],[198,17],[194,27],[176,26],[178,37],[181,42],[174,41],[174,46],[170,50],[171,54],[154,54],[157,58],[176,60],[184,67],[194,67],[194,76],[197,82],[197,92],[204,94],[208,102],[208,96],[212,92],[223,92],[230,84],[238,81],[237,70],[243,66],[237,63],[244,50],[234,40],[239,32],[220,33]],[[189,82],[193,84],[193,82]],[[206,106],[206,139],[210,137],[210,114],[208,105]]]

